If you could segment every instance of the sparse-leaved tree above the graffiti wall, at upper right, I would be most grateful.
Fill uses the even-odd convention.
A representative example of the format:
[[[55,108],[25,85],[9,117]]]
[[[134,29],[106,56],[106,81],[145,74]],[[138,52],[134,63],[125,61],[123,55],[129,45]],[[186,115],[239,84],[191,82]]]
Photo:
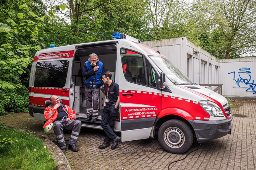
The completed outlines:
[[[210,32],[210,48],[220,52],[218,58],[255,51],[255,0],[198,0],[196,6],[204,14],[200,25]]]

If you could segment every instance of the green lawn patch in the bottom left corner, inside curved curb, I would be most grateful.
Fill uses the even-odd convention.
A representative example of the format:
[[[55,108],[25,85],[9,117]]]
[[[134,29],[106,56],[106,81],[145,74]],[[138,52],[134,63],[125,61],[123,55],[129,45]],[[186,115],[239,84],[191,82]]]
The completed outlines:
[[[0,123],[0,141],[3,138],[14,142],[7,142],[4,146],[0,145],[1,170],[55,169],[57,163],[54,162],[52,153],[44,146],[43,141],[35,135],[6,128]]]

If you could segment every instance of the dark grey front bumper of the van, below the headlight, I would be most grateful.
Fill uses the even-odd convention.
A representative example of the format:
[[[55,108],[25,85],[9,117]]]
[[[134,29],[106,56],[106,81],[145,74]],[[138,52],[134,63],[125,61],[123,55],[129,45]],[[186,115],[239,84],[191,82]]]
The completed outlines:
[[[197,141],[203,143],[231,134],[233,126],[231,123],[232,119],[233,117],[221,121],[189,120],[189,122],[194,128]]]

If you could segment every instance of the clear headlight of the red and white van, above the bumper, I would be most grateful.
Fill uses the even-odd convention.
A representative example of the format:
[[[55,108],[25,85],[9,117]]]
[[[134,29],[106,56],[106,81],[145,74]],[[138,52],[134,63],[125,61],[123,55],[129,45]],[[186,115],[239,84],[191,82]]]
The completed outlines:
[[[214,102],[210,102],[208,100],[202,100],[202,101],[199,101],[199,104],[211,116],[216,116],[216,117],[224,116],[220,107]]]

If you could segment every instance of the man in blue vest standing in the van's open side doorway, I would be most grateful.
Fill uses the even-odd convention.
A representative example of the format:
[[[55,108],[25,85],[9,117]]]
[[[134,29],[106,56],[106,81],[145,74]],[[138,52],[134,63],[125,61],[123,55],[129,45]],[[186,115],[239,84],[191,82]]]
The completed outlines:
[[[86,122],[95,123],[98,117],[99,92],[101,76],[105,66],[99,61],[97,54],[92,53],[83,66],[83,77],[85,78],[85,100],[86,100]]]

